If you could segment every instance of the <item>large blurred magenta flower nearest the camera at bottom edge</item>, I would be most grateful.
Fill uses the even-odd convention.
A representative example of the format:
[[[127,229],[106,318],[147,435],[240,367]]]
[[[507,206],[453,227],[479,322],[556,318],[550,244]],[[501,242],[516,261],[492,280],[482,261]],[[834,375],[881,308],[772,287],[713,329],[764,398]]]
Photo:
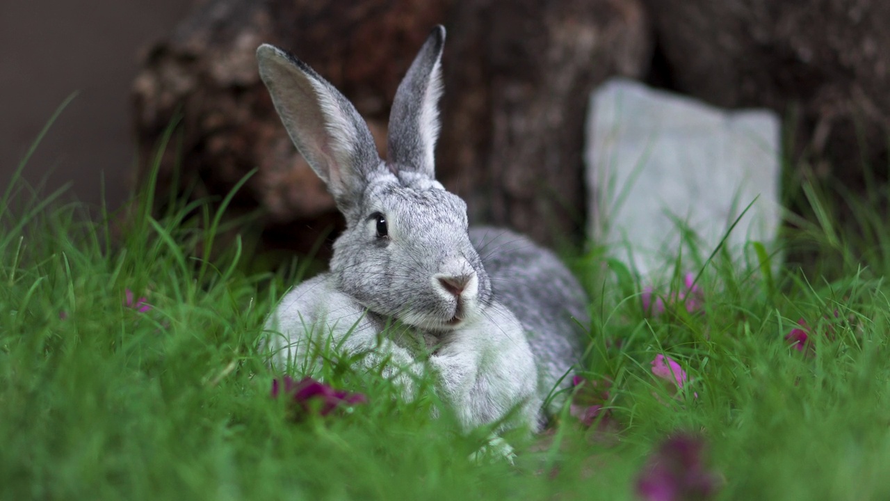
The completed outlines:
[[[646,462],[636,481],[636,493],[645,501],[713,497],[718,479],[704,467],[704,448],[702,439],[688,434],[667,439]]]

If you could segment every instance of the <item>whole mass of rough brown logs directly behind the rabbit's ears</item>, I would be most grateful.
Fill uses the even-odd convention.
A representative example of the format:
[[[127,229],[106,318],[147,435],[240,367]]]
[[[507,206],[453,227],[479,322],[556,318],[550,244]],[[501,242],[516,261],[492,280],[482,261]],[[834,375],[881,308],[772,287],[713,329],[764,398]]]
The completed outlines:
[[[339,219],[275,115],[256,47],[279,45],[309,63],[355,103],[383,150],[396,87],[442,21],[438,176],[465,197],[473,223],[543,243],[578,236],[587,96],[604,78],[648,66],[638,0],[208,0],[151,49],[134,83],[143,158],[182,114],[178,147],[159,166],[158,200],[186,188],[190,198],[218,198],[257,168],[232,211],[262,208],[266,243],[310,249]]]

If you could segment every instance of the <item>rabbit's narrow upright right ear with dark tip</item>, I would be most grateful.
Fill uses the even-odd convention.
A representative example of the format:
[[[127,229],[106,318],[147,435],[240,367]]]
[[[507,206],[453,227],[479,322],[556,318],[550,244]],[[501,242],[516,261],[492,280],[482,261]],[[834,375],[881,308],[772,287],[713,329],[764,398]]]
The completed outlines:
[[[395,168],[435,177],[441,55],[445,29],[435,27],[399,85],[390,111],[388,158]]]

